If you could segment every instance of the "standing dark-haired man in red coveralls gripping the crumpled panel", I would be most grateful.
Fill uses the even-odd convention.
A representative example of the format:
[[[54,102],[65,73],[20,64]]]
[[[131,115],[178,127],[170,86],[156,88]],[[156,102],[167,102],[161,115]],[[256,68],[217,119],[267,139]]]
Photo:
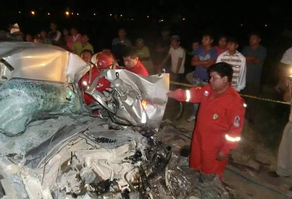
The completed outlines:
[[[210,84],[191,90],[175,90],[177,101],[200,103],[190,153],[190,167],[207,174],[222,174],[228,154],[240,141],[245,104],[232,88],[232,66],[220,62],[210,66]]]

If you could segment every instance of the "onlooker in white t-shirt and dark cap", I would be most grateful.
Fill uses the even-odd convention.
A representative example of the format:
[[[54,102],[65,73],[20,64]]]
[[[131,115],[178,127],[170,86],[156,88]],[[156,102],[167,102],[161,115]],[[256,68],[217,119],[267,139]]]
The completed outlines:
[[[171,37],[171,47],[169,49],[168,55],[164,58],[163,62],[160,65],[160,69],[164,67],[168,59],[171,58],[171,72],[175,75],[183,74],[185,72],[185,59],[186,52],[180,46],[180,37],[172,36]]]

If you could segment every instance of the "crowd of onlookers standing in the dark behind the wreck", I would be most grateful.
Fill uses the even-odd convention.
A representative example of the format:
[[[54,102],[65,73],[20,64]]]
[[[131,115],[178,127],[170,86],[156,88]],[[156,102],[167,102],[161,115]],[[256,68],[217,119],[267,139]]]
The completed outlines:
[[[35,36],[26,34],[24,40],[60,46],[87,61],[96,53],[89,42],[89,36],[80,34],[77,28],[63,29],[60,32],[57,24],[51,23],[50,29],[50,32],[42,30]],[[122,49],[126,46],[136,46],[139,60],[150,74],[166,69],[171,73],[171,78],[179,81],[185,77],[195,86],[203,86],[208,82],[209,66],[224,61],[233,66],[233,87],[237,91],[242,90],[256,95],[260,90],[262,67],[266,58],[266,48],[261,46],[260,42],[261,36],[252,33],[249,46],[238,52],[239,42],[234,36],[214,38],[210,33],[205,33],[201,40],[194,40],[191,51],[186,51],[180,45],[180,36],[171,35],[170,28],[164,27],[155,49],[150,52],[143,38],[137,38],[136,43],[132,44],[127,38],[126,30],[121,28],[117,32],[117,37],[112,40],[112,48],[108,50],[112,51],[120,65],[124,65]],[[190,63],[186,63],[189,59]],[[187,73],[190,68],[186,70],[186,66],[191,66],[194,70]],[[276,87],[278,88],[280,87]]]

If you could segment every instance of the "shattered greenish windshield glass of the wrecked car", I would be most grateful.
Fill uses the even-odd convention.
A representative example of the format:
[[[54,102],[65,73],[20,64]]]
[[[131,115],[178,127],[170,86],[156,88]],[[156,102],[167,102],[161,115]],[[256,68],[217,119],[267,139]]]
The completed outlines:
[[[82,108],[69,85],[10,79],[0,87],[0,133],[19,136],[34,120],[48,115],[80,113]]]

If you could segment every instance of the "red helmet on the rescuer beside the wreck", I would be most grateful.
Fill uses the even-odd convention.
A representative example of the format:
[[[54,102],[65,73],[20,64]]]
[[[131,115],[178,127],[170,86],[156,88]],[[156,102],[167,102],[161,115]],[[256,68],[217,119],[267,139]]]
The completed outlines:
[[[100,69],[109,68],[117,63],[114,55],[110,51],[102,51],[94,54],[91,61]]]

